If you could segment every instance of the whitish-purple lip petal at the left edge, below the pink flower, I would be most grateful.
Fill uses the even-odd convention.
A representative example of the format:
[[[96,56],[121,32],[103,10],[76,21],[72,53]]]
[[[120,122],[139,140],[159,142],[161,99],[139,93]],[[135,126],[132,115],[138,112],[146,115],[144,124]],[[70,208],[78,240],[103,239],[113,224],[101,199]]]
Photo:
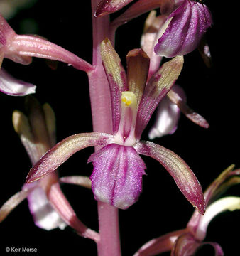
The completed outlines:
[[[24,96],[35,93],[36,86],[13,78],[5,70],[0,70],[0,91],[11,96]]]

